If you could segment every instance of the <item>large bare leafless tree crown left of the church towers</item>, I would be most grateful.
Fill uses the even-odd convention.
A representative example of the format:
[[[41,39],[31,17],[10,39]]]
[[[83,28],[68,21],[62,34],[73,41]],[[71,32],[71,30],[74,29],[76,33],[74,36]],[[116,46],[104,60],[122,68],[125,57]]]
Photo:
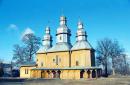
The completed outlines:
[[[38,51],[41,42],[40,38],[33,33],[25,34],[22,38],[23,46],[14,45],[13,63],[18,67],[21,64],[34,62],[34,54]]]

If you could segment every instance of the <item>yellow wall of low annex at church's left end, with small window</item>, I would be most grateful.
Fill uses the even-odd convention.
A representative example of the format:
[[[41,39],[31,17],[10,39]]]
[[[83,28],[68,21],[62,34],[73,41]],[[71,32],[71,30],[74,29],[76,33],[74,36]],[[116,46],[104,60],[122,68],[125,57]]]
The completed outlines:
[[[30,78],[32,68],[35,68],[35,67],[34,66],[21,66],[20,67],[20,78]]]

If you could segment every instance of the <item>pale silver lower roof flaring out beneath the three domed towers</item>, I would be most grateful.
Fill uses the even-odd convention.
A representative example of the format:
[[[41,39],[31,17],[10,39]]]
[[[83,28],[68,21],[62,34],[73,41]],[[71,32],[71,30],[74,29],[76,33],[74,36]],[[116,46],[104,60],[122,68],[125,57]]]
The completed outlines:
[[[93,49],[88,41],[82,40],[77,41],[73,47],[69,43],[56,43],[53,47],[49,48],[42,46],[37,53],[47,53],[47,52],[59,52],[59,51],[69,51],[69,50],[80,50],[80,49]]]

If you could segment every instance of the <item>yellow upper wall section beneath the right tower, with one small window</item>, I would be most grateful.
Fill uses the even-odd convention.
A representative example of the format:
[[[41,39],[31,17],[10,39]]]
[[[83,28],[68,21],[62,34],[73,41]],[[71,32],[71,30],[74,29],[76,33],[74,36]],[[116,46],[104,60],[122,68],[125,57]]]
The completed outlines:
[[[90,50],[77,50],[71,53],[71,66],[91,66],[91,51]]]

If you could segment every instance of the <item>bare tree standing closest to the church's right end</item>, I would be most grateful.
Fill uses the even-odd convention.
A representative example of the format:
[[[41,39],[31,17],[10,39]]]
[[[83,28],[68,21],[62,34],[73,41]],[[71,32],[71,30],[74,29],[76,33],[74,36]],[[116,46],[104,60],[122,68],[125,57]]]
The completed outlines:
[[[110,56],[110,49],[111,49],[112,41],[108,38],[100,40],[97,42],[97,61],[99,64],[102,64],[105,67],[105,76],[108,76],[108,58]]]

